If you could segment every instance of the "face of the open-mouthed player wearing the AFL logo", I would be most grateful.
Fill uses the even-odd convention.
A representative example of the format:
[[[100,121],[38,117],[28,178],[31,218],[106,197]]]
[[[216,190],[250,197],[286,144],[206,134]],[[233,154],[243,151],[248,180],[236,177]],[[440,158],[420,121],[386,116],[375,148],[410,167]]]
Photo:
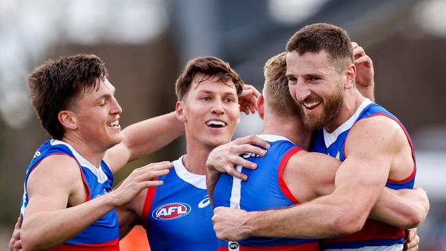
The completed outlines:
[[[198,74],[183,101],[183,121],[187,141],[217,147],[231,141],[240,111],[235,85],[231,80]]]

